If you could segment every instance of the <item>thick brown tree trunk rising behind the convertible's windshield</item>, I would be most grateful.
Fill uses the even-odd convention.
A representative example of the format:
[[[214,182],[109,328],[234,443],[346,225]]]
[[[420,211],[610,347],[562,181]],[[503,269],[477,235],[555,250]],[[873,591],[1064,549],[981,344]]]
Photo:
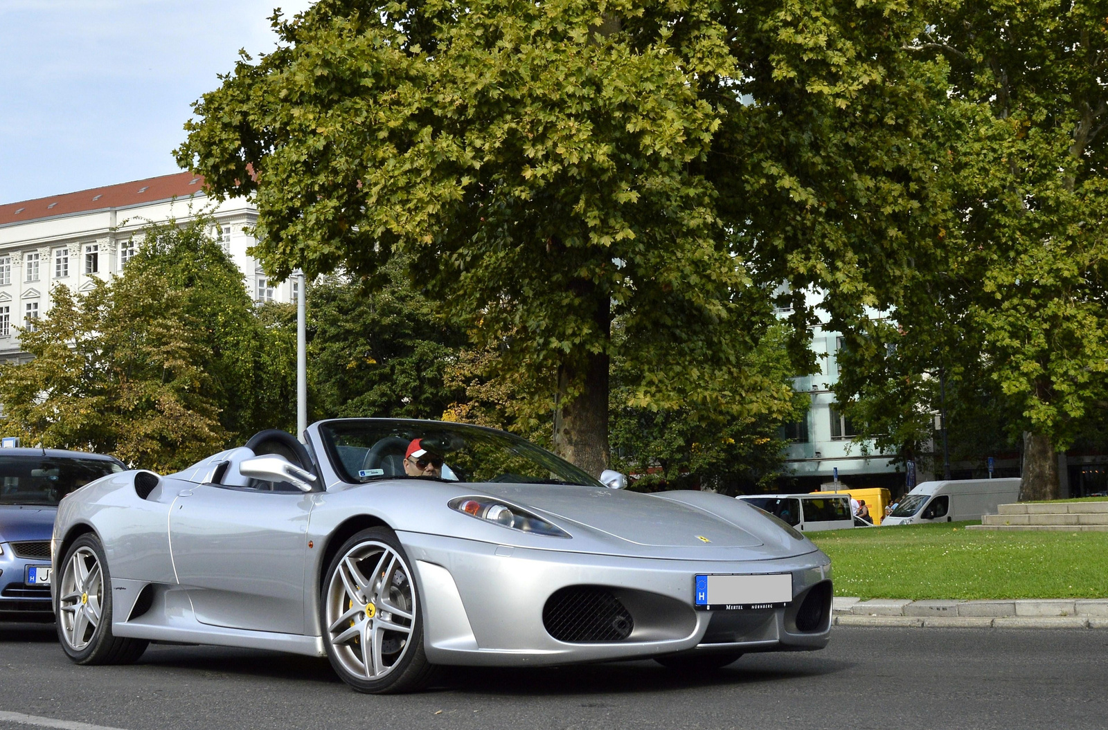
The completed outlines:
[[[581,394],[564,399],[583,378]],[[589,354],[585,372],[558,369],[558,408],[554,411],[554,453],[593,476],[608,467],[608,356]]]

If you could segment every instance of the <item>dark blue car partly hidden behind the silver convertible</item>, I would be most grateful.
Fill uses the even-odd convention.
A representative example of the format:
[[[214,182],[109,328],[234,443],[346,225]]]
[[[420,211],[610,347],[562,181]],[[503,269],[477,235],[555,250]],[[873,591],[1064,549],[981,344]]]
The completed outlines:
[[[0,449],[0,621],[52,621],[50,537],[58,502],[105,474],[111,456],[54,449]]]

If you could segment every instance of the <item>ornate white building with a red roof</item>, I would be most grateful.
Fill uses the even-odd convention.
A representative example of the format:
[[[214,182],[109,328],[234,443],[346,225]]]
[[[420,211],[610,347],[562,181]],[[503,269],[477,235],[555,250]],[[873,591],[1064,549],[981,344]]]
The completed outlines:
[[[274,282],[246,254],[254,238],[244,232],[257,210],[243,198],[216,203],[191,173],[163,175],[0,205],[0,360],[22,359],[17,326],[50,310],[61,284],[86,291],[93,279],[119,273],[150,223],[186,223],[211,215],[219,240],[243,271],[255,301],[295,301],[294,284]]]

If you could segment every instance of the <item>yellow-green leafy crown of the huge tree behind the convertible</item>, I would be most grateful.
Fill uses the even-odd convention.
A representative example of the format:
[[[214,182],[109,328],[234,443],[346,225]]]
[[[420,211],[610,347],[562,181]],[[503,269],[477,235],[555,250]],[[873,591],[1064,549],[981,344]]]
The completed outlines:
[[[926,226],[907,16],[824,6],[321,0],[203,96],[177,160],[254,196],[278,276],[381,285],[402,255],[496,353],[468,385],[511,391],[529,429],[609,357],[619,408],[752,423],[791,403],[760,370],[771,287],[752,277],[869,300]]]

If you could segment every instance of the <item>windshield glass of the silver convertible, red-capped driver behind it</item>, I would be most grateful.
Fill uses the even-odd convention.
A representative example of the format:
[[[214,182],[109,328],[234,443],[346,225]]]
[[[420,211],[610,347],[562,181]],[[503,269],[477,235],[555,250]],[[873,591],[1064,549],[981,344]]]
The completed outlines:
[[[433,421],[367,419],[329,421],[319,426],[319,432],[339,476],[353,484],[409,477],[604,489],[570,462],[519,436],[493,429]],[[416,439],[419,443],[413,448],[413,455],[406,459]],[[424,466],[414,469],[417,461]]]

